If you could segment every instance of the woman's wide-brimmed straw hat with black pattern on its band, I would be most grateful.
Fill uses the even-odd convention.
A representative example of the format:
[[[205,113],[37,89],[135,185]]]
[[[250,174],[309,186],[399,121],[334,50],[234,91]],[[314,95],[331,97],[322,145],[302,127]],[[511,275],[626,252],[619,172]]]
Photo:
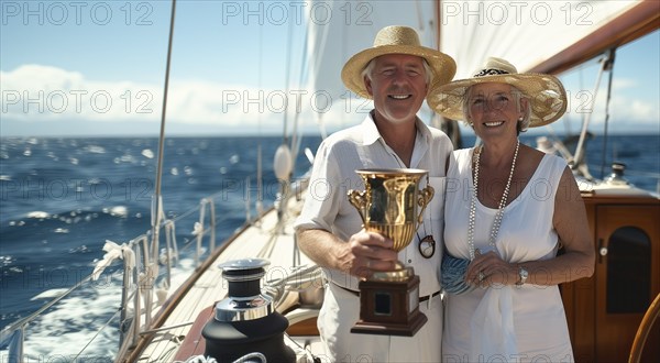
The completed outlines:
[[[510,63],[491,57],[472,78],[433,85],[427,102],[441,116],[464,120],[463,95],[471,86],[483,82],[508,84],[520,90],[531,105],[530,128],[557,121],[566,110],[566,91],[557,77],[543,74],[519,74]]]

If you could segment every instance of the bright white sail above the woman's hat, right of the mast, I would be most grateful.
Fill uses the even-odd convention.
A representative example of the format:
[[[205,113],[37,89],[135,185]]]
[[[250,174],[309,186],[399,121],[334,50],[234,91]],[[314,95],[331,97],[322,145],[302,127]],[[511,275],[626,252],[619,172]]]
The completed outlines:
[[[457,78],[488,56],[532,69],[640,1],[440,1],[440,50],[457,59]]]

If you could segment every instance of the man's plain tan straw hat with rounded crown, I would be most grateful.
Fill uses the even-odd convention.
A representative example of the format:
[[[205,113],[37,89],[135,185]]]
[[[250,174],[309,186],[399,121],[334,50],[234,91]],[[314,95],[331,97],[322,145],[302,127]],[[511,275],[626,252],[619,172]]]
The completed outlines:
[[[457,64],[449,55],[421,46],[417,32],[408,26],[392,25],[383,28],[376,34],[374,46],[352,56],[341,70],[341,79],[346,88],[361,97],[371,99],[366,91],[362,70],[375,57],[386,54],[409,54],[425,58],[433,70],[432,82],[444,85],[457,73]]]

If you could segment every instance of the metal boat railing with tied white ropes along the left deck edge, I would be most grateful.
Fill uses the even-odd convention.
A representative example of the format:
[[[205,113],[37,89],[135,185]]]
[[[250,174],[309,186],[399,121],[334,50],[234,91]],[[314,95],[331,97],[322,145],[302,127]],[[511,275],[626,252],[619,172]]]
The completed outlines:
[[[180,223],[182,219],[195,212],[199,213],[198,222],[195,223],[195,228],[191,231],[191,240],[195,241],[195,251],[193,253],[195,268],[199,267],[204,262],[205,242],[207,242],[206,244],[208,245],[209,251],[216,249],[217,221],[213,202],[216,196],[217,195],[212,195],[202,198],[199,205],[191,208],[189,211],[175,219],[162,221],[160,229],[164,231],[166,245],[158,256],[153,256],[153,253],[151,253],[150,242],[152,244],[154,243],[154,241],[151,241],[153,237],[152,233],[150,233],[151,231],[130,240],[128,243],[119,244],[107,240],[103,245],[103,251],[106,252],[103,258],[97,262],[94,271],[88,276],[80,279],[77,284],[58,295],[56,298],[46,302],[38,310],[0,331],[0,348],[7,346],[8,349],[3,352],[3,354],[7,353],[7,355],[2,356],[2,362],[24,362],[23,346],[26,338],[26,327],[85,284],[98,279],[107,267],[114,264],[116,260],[121,260],[123,264],[121,267],[123,272],[121,278],[120,308],[102,324],[102,328],[95,334],[95,339],[101,330],[111,326],[112,320],[117,319],[117,316],[119,315],[119,345],[123,348],[134,346],[138,342],[138,338],[143,331],[150,331],[151,329],[148,326],[151,317],[143,317],[143,315],[151,310],[146,309],[146,306],[143,306],[143,301],[146,300],[146,295],[154,294],[156,296],[156,301],[152,305],[160,306],[165,301],[167,292],[172,288],[173,268],[180,260],[179,248],[176,241],[176,224]],[[205,237],[208,237],[208,239],[206,239],[207,241],[205,241]],[[187,243],[183,249],[189,248],[190,244],[191,242]],[[158,273],[158,265],[165,267],[162,274]],[[156,280],[162,280],[162,286],[155,286]],[[155,314],[157,314],[157,311],[152,312],[152,315]],[[88,342],[78,355],[82,354],[89,343],[91,342]]]

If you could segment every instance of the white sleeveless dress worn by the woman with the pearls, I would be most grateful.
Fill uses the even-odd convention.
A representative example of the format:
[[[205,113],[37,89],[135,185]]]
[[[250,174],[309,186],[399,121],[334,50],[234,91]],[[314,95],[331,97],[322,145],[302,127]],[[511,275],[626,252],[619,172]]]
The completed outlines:
[[[455,160],[447,176],[444,209],[447,251],[465,260],[470,258],[468,219],[473,190],[472,152],[466,148],[453,154]],[[524,263],[557,255],[558,235],[552,228],[552,215],[557,193],[560,197],[571,197],[558,191],[565,167],[562,158],[544,155],[524,191],[505,207],[496,240],[496,249],[505,261]],[[512,185],[512,190],[515,188]],[[477,200],[474,245],[483,253],[490,251],[488,234],[496,212],[497,209],[484,207]],[[446,362],[573,362],[557,285],[507,285],[449,295],[442,337]]]

